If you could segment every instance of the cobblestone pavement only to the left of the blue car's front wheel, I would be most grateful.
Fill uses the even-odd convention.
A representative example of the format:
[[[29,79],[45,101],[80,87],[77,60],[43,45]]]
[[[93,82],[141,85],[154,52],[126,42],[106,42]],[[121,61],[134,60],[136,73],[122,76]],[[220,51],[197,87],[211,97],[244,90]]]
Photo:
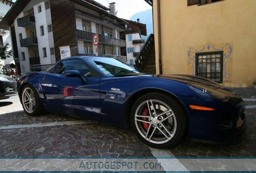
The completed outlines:
[[[8,123],[4,121],[7,116]],[[38,117],[29,117],[24,112],[0,115],[0,125],[76,120],[57,114]],[[104,123],[2,129],[0,137],[0,157],[152,156],[132,131]]]

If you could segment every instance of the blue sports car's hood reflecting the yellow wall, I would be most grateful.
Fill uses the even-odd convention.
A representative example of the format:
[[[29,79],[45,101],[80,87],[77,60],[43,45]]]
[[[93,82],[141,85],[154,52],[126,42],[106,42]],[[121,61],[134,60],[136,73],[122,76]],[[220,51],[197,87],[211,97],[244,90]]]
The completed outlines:
[[[202,78],[199,76],[192,76],[192,75],[186,75],[186,74],[155,74],[154,77],[174,80],[174,81],[178,81],[186,84],[188,83],[200,84],[204,87],[208,87],[211,89],[218,89],[221,87],[220,84],[212,80]]]

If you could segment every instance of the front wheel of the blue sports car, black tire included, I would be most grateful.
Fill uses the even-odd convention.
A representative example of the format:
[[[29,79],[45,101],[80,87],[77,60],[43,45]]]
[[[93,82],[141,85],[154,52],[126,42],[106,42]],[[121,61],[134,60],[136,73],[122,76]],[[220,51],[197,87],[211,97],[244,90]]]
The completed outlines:
[[[145,110],[146,107],[148,112]],[[168,111],[169,113],[166,113]],[[149,117],[146,118],[143,113]],[[162,113],[166,114],[161,115]],[[140,97],[132,106],[130,121],[133,131],[145,144],[160,149],[170,148],[179,143],[188,129],[188,118],[182,105],[175,98],[160,92]],[[158,123],[155,124],[156,122]]]

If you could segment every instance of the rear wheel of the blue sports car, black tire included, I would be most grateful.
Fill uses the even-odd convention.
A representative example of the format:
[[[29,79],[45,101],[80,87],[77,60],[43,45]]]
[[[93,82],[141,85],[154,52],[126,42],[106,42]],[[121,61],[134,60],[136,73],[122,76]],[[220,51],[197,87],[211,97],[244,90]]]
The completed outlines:
[[[31,101],[29,100],[29,102],[28,101],[25,102],[28,99],[25,91],[32,91],[32,99],[31,99]],[[29,93],[29,95],[31,95],[31,93]],[[42,103],[40,101],[39,95],[37,94],[36,89],[33,86],[31,86],[30,84],[26,84],[23,87],[23,89],[21,91],[20,98],[21,98],[21,104],[22,104],[23,110],[25,111],[25,113],[27,115],[29,115],[29,116],[37,116],[37,115],[41,115],[41,114],[44,113],[43,105],[42,105]],[[30,107],[28,106],[30,104],[33,106],[33,107],[31,107],[32,108],[31,111],[30,111]]]

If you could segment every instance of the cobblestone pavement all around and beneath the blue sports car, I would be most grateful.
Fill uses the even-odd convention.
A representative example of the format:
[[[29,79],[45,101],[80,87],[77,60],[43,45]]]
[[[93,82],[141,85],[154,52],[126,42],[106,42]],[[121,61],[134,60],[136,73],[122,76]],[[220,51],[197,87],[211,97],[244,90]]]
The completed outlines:
[[[251,99],[254,97],[248,98],[250,101],[245,101],[246,106],[256,105],[256,101]],[[246,132],[232,143],[183,141],[178,146],[162,152],[174,157],[256,157],[255,108],[246,109],[246,120]],[[152,149],[142,143],[131,130],[54,113],[37,117],[30,117],[24,111],[0,114],[0,127],[67,121],[85,123],[0,129],[0,157],[154,156]]]

